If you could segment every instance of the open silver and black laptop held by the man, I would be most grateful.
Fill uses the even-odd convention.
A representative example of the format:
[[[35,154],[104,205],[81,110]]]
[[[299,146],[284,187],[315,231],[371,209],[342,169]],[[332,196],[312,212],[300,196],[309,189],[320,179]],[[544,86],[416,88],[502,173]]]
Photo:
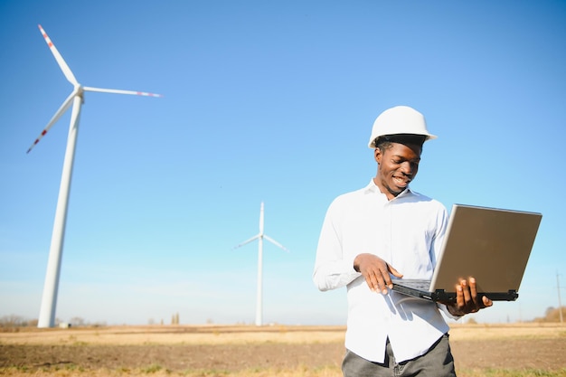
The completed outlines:
[[[454,204],[432,279],[394,279],[393,290],[450,302],[460,279],[474,277],[478,296],[514,301],[541,220],[537,212]]]

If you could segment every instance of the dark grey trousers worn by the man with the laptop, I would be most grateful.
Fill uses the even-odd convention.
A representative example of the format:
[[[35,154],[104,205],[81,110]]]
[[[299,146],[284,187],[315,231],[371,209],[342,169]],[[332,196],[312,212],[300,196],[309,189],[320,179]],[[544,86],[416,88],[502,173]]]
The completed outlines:
[[[344,377],[456,377],[448,334],[432,344],[427,353],[402,363],[395,362],[389,339],[384,363],[369,362],[346,351],[342,372]]]

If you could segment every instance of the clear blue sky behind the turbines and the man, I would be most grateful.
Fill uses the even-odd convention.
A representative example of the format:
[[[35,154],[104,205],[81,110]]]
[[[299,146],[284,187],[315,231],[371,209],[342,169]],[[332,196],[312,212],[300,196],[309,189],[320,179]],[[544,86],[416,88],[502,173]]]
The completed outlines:
[[[444,203],[542,212],[514,303],[480,322],[542,316],[566,281],[561,172],[566,4],[411,1],[12,1],[0,5],[0,316],[37,318],[71,93],[42,24],[85,86],[57,317],[344,324],[345,289],[312,283],[335,196],[375,174],[385,108],[430,132],[412,188]],[[566,283],[562,283],[562,287]],[[566,297],[562,298],[562,302]]]

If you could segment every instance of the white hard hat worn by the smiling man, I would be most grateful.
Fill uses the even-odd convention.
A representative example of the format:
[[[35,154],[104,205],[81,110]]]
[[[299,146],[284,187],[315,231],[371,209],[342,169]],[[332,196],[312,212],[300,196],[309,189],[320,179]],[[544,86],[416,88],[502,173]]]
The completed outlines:
[[[422,135],[426,140],[437,138],[427,130],[427,122],[419,111],[409,106],[388,108],[373,122],[370,148],[375,148],[375,139],[385,135]]]

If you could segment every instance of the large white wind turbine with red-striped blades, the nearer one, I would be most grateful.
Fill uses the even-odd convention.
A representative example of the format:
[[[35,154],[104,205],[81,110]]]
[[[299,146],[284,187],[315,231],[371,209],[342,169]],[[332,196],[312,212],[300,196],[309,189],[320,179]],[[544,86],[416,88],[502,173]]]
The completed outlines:
[[[63,162],[63,171],[61,174],[61,186],[59,188],[59,199],[57,200],[57,210],[55,212],[55,221],[53,223],[52,243],[49,250],[49,259],[47,261],[47,272],[45,274],[45,284],[43,286],[42,306],[40,309],[38,327],[52,327],[55,325],[55,306],[57,304],[57,290],[59,287],[59,275],[61,271],[61,254],[63,249],[63,239],[65,234],[65,223],[67,221],[67,204],[69,203],[69,192],[71,189],[71,175],[72,165],[75,158],[75,146],[77,143],[77,134],[79,131],[79,118],[80,118],[80,105],[82,105],[85,91],[99,91],[103,93],[117,93],[117,94],[132,94],[135,96],[148,96],[148,97],[161,97],[159,94],[146,93],[134,90],[113,90],[113,89],[100,89],[83,87],[79,81],[75,79],[71,69],[63,60],[61,54],[53,45],[51,39],[42,28],[38,25],[39,30],[42,32],[45,42],[49,46],[55,60],[59,64],[63,74],[71,82],[73,90],[71,94],[62,103],[61,107],[57,110],[53,118],[49,121],[47,126],[43,129],[33,145],[27,150],[27,153],[33,149],[42,137],[45,136],[47,131],[61,118],[61,116],[69,109],[72,104],[71,111],[71,124],[69,127],[69,136],[67,138],[67,149],[65,151],[65,159]]]

